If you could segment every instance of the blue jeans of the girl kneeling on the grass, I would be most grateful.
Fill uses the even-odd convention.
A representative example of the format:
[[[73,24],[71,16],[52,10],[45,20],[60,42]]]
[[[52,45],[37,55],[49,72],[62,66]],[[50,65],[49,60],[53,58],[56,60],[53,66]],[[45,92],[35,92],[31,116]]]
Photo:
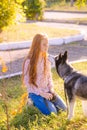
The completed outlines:
[[[34,93],[29,93],[29,98],[33,101],[34,106],[45,115],[49,115],[51,112],[57,113],[59,110],[66,110],[64,101],[58,95],[56,95],[54,101],[49,101]]]

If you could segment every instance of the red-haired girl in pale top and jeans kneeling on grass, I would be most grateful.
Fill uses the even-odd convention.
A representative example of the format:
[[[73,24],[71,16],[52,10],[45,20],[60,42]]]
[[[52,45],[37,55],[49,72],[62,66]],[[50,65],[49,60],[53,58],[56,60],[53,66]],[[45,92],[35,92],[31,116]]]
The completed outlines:
[[[23,64],[23,79],[29,98],[45,115],[57,113],[60,109],[66,110],[65,103],[53,90],[51,63],[47,52],[47,35],[36,34]]]

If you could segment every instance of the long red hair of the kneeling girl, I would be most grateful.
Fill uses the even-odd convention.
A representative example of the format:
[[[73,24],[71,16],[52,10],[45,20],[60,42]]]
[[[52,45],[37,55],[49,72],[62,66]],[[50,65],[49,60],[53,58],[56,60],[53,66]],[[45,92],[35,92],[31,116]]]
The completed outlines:
[[[40,51],[41,51],[41,41],[43,39],[48,39],[47,38],[47,35],[45,34],[36,34],[33,38],[33,41],[32,41],[32,45],[31,45],[31,48],[29,50],[29,53],[27,55],[27,57],[25,58],[24,60],[24,63],[23,63],[23,78],[24,78],[24,64],[25,64],[25,61],[27,59],[30,59],[30,64],[28,66],[28,74],[29,74],[29,83],[31,84],[34,84],[36,87],[38,87],[36,85],[36,78],[37,78],[37,62],[38,62],[38,58],[39,58],[39,55],[40,55]],[[46,58],[47,58],[47,53],[45,53],[43,55],[44,57],[44,73],[46,72]]]

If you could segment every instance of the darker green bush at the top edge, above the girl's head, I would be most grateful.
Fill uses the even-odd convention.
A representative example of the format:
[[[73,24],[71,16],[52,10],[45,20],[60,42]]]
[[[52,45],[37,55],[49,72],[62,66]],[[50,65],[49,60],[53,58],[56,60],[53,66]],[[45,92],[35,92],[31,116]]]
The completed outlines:
[[[26,0],[23,3],[24,12],[27,19],[30,20],[42,20],[44,13],[44,0]]]

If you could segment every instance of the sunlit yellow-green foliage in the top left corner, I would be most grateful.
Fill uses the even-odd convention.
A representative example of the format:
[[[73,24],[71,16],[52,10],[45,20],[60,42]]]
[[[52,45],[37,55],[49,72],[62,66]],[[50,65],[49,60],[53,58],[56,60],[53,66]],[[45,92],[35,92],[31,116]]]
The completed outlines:
[[[15,3],[15,0],[0,1],[0,31],[6,26],[20,21],[23,17],[22,6]]]

